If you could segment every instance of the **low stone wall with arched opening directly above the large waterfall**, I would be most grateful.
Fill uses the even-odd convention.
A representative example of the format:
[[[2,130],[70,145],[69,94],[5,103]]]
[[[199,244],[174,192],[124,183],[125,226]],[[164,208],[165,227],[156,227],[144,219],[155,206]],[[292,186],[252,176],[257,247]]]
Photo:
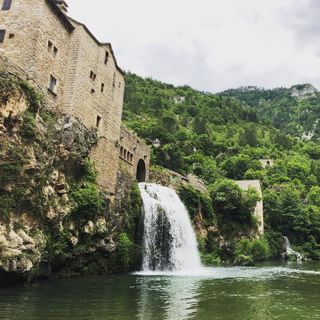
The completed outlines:
[[[150,166],[150,153],[151,147],[147,146],[143,140],[126,127],[121,126],[120,134],[120,149],[119,157],[120,163],[127,171],[138,180],[147,181],[149,179],[149,166]],[[139,179],[138,167],[141,164],[145,165],[145,179]]]

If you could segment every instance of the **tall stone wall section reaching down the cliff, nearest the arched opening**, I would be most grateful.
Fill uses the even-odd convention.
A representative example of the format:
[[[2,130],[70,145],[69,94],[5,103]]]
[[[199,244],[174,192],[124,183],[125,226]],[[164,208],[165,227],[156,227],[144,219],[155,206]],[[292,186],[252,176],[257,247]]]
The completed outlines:
[[[115,193],[124,77],[117,70],[110,45],[97,43],[82,24],[74,20],[72,23],[75,30],[71,36],[64,107],[87,127],[97,128],[99,141],[91,156],[98,183]]]

